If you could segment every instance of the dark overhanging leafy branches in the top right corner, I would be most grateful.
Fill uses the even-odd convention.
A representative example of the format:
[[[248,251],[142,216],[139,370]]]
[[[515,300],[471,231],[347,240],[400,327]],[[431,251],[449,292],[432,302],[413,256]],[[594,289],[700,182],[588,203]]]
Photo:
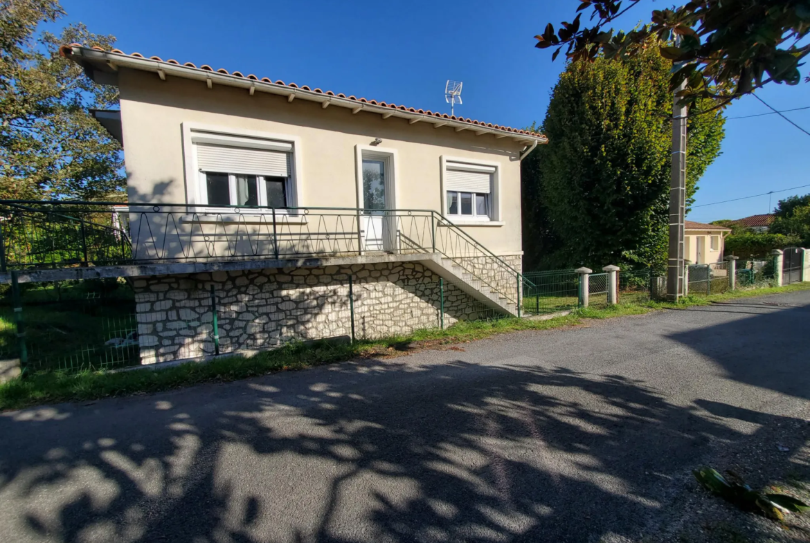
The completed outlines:
[[[535,36],[536,47],[556,47],[552,58],[566,47],[570,59],[593,61],[599,53],[607,58],[643,53],[656,36],[663,57],[684,63],[671,75],[670,90],[686,80],[682,95],[689,104],[699,99],[725,104],[766,83],[801,80],[801,59],[810,53],[810,44],[800,45],[810,32],[810,0],[693,0],[653,11],[651,24],[632,32],[606,29],[640,2],[627,0],[622,9],[621,0],[581,0],[577,11],[591,8],[593,26],[582,26],[582,13],[557,32],[548,23]],[[673,36],[681,37],[678,47],[668,43]]]

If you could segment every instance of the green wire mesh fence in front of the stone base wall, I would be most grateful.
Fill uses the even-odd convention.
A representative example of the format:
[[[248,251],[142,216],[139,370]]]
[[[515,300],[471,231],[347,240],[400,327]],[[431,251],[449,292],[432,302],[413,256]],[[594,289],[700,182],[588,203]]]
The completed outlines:
[[[159,282],[150,291],[106,280],[22,284],[19,312],[6,286],[0,358],[19,359],[23,374],[95,371],[326,337],[406,336],[506,316],[465,282],[424,277],[390,282],[362,272],[334,274],[328,285],[303,283],[285,291],[275,284],[263,292],[213,284],[164,291]]]

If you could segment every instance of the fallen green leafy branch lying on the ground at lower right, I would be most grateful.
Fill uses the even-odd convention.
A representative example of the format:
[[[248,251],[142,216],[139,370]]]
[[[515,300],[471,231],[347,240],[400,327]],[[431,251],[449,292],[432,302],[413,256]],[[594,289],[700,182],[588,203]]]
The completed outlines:
[[[787,494],[771,494],[752,490],[745,481],[733,472],[726,472],[731,481],[723,477],[716,469],[702,467],[693,471],[697,482],[717,494],[727,502],[735,504],[744,511],[759,512],[770,519],[783,520],[785,513],[803,513],[810,511],[810,505]]]

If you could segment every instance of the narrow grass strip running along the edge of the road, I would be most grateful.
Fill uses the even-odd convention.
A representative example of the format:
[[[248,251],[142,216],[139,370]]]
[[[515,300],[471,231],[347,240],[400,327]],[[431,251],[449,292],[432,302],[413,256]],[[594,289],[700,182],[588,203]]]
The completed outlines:
[[[557,316],[548,320],[512,318],[463,321],[448,329],[416,330],[408,336],[361,340],[354,343],[334,341],[292,343],[249,358],[230,356],[216,358],[208,363],[183,363],[155,370],[36,373],[0,384],[0,409],[18,409],[28,405],[63,401],[92,401],[104,397],[160,392],[194,384],[246,379],[274,371],[300,370],[354,358],[391,358],[418,350],[442,348],[442,346],[455,343],[484,339],[501,333],[580,325],[585,319],[642,315],[666,308],[683,309],[752,296],[805,290],[810,290],[810,283],[734,291],[706,297],[688,296],[678,303],[620,303],[610,308],[582,308],[570,315]]]

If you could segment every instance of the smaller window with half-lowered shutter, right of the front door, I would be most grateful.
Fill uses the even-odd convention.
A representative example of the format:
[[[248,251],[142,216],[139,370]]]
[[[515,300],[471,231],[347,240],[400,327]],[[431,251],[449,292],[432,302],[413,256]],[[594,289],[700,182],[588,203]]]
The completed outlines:
[[[451,218],[488,221],[492,218],[492,177],[495,168],[477,164],[447,162],[445,192]]]

